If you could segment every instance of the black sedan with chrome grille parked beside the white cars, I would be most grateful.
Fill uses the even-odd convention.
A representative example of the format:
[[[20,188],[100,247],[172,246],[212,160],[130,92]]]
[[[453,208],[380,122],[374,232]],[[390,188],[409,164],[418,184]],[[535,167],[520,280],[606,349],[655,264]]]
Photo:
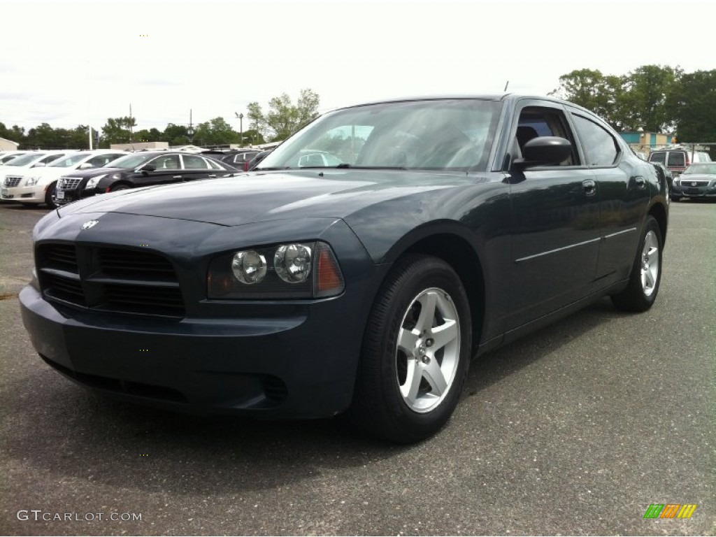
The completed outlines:
[[[57,181],[57,205],[141,186],[227,177],[238,170],[206,155],[157,151],[132,153],[107,168],[77,170]]]

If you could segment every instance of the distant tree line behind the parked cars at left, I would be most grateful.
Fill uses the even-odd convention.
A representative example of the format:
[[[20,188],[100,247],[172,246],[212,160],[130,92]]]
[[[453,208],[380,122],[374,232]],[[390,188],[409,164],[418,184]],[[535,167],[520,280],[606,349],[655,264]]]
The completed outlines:
[[[93,131],[93,147],[110,147],[110,144],[132,142],[168,142],[169,145],[256,145],[267,141],[286,139],[307,122],[318,117],[319,96],[311,89],[302,89],[296,104],[291,97],[280,95],[269,101],[266,112],[258,102],[248,105],[247,129],[235,130],[223,117],[198,123],[176,125],[169,123],[164,130],[157,128],[135,130],[135,117],[110,117],[101,130]],[[53,128],[42,123],[25,132],[24,127],[6,127],[0,122],[0,137],[18,142],[21,149],[87,149],[87,125],[74,129]]]

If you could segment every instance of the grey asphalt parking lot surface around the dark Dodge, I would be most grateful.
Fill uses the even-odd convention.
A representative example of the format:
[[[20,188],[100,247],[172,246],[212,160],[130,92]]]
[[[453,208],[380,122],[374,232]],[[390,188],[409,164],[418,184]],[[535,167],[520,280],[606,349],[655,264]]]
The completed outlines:
[[[107,402],[60,377],[17,301],[45,212],[0,205],[1,534],[716,533],[716,203],[672,203],[650,311],[604,299],[486,355],[448,427],[407,447],[340,420]],[[697,508],[643,518],[654,503]]]

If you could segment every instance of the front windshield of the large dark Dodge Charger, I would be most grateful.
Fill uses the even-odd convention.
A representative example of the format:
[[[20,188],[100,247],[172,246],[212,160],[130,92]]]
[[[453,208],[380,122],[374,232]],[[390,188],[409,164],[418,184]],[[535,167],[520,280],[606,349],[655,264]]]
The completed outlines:
[[[276,147],[256,169],[485,169],[500,107],[450,99],[337,110]]]

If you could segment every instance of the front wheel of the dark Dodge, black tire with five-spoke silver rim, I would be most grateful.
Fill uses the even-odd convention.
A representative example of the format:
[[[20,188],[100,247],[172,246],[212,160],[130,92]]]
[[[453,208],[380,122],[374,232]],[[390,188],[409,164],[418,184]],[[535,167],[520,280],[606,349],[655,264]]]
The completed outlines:
[[[432,316],[420,316],[423,308]],[[419,325],[427,329],[420,332]],[[448,263],[432,256],[397,261],[368,319],[349,419],[370,435],[400,443],[435,434],[458,404],[470,365],[471,326],[465,288]],[[400,335],[412,348],[410,357],[398,347]]]

